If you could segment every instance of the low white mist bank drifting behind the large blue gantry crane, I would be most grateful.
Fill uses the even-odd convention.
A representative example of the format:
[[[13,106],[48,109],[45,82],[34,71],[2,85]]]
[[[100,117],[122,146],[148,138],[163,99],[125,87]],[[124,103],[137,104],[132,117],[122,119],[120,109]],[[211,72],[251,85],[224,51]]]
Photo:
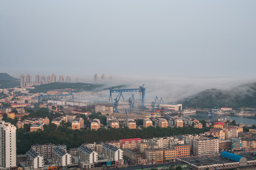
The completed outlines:
[[[247,88],[235,88],[242,84],[253,82],[249,78],[188,78],[175,76],[119,76],[112,80],[100,81],[106,84],[106,87],[116,85],[126,85],[124,88],[138,88],[145,84],[145,102],[152,102],[155,96],[162,97],[165,103],[177,102],[183,98],[191,97],[193,94],[206,89],[220,89],[229,91],[229,96],[243,95]],[[233,93],[233,94],[232,94]],[[109,90],[105,91],[109,95]],[[117,94],[116,94],[117,95]],[[128,100],[131,93],[123,93],[124,98]],[[135,99],[139,100],[139,93],[134,93]]]

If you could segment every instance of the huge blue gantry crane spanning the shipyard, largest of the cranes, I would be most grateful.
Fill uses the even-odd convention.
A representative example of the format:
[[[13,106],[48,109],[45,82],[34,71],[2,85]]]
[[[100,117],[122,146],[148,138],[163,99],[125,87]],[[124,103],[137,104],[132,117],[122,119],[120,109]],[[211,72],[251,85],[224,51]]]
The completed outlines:
[[[110,90],[110,96],[109,96],[109,104],[110,102],[113,105],[113,100],[112,100],[112,93],[124,93],[124,92],[139,92],[140,95],[142,95],[142,99],[141,99],[141,109],[146,109],[145,107],[145,87],[144,85],[139,86],[139,88],[134,88],[134,89],[112,89]]]

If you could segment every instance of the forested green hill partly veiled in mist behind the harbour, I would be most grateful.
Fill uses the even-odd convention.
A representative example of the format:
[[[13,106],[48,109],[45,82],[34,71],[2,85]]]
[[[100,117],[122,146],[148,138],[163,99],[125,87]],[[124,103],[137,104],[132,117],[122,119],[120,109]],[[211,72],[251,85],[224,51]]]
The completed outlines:
[[[180,101],[185,104],[184,100]],[[196,93],[188,100],[188,107],[193,108],[212,108],[215,103],[219,107],[232,107],[239,109],[240,107],[256,108],[256,82],[230,90],[207,89]]]

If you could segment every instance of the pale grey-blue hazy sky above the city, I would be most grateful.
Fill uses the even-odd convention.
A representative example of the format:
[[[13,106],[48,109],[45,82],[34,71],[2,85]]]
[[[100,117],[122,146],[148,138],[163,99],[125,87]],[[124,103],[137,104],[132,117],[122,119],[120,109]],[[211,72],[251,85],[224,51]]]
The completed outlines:
[[[0,72],[17,78],[253,79],[255,65],[256,0],[0,0]]]

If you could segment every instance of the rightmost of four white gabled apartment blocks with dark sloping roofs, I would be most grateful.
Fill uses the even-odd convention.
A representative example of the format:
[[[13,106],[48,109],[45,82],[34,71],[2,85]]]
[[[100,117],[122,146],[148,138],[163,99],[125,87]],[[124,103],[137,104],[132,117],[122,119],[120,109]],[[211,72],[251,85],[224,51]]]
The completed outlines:
[[[111,161],[123,162],[123,150],[112,144],[106,143],[102,145],[102,155]]]

